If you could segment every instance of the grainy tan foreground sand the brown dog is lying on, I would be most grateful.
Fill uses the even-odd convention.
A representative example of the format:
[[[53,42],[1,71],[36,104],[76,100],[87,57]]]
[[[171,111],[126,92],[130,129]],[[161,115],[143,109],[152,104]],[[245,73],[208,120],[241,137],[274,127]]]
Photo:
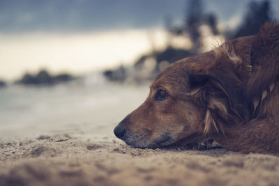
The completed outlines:
[[[278,185],[279,157],[139,149],[69,134],[0,143],[0,185]]]

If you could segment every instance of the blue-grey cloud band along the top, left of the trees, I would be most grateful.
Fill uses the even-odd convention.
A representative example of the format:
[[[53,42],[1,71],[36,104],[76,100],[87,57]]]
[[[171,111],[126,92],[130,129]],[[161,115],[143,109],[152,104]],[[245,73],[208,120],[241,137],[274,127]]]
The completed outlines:
[[[0,31],[146,28],[183,14],[184,0],[1,0]]]

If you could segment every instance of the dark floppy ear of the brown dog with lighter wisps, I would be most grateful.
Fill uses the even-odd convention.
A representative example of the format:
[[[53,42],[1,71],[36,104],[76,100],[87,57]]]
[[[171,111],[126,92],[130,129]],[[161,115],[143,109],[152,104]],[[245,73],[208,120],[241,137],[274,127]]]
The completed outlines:
[[[204,134],[225,133],[224,127],[239,121],[228,92],[229,87],[211,75],[190,75],[190,88],[196,93],[202,107],[206,107]]]

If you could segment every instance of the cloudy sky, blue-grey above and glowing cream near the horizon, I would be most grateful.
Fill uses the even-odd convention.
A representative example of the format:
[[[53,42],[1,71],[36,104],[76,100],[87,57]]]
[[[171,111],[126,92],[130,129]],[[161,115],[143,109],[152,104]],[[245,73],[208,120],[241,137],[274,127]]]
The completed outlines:
[[[223,26],[237,26],[249,0],[204,0]],[[279,2],[271,1],[278,17]],[[165,46],[165,17],[183,21],[187,0],[0,0],[0,79],[25,72],[80,74],[131,64]],[[152,38],[152,41],[151,41]]]

